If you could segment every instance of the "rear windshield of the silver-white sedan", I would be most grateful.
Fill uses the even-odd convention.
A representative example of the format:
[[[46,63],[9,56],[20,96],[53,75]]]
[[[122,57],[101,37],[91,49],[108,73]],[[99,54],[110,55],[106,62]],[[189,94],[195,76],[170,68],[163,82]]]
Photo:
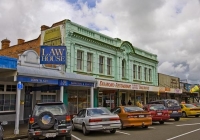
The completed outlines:
[[[106,108],[90,108],[87,109],[87,116],[108,115],[111,112]]]

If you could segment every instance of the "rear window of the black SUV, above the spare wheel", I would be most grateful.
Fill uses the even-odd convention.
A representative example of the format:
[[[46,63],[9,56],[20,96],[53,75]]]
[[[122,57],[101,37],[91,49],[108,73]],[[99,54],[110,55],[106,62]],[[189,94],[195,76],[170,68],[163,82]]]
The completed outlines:
[[[39,116],[42,112],[49,111],[53,115],[65,115],[67,110],[63,104],[56,105],[36,105],[33,115]]]

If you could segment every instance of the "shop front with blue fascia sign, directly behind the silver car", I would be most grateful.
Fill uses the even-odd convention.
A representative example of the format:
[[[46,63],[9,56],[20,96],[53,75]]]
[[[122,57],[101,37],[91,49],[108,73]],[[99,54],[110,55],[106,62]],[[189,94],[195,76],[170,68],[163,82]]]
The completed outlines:
[[[73,75],[74,74],[71,74],[71,77],[73,77]],[[75,81],[74,79],[72,80],[59,81],[59,85],[65,87],[64,102],[66,102],[67,108],[71,115],[77,114],[83,108],[94,106],[93,94],[96,83],[94,77],[87,77],[86,79],[83,78],[82,75],[79,77],[79,80],[82,81]]]

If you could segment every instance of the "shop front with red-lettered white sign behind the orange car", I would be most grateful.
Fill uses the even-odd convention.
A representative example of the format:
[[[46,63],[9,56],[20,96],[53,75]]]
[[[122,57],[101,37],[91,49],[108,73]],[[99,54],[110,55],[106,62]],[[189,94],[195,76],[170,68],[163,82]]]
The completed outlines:
[[[157,96],[159,87],[97,80],[98,105],[112,109],[118,105],[146,104]]]

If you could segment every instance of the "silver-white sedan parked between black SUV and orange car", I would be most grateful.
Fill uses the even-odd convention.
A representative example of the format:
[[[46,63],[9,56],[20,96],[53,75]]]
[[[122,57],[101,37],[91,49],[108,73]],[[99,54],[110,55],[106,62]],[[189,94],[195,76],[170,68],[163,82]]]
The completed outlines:
[[[90,131],[109,130],[115,133],[121,122],[119,116],[112,114],[107,108],[85,108],[72,119],[72,130],[80,129],[84,135]]]

